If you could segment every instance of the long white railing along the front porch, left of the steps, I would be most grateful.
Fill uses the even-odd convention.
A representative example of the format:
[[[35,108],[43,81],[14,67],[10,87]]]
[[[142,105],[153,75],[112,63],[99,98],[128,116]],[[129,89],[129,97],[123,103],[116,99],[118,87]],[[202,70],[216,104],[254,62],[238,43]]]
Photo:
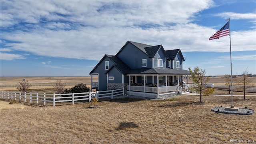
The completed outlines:
[[[176,91],[180,88],[180,86],[161,86],[158,87],[158,93]],[[144,86],[130,86],[130,88],[127,86],[127,90],[144,92]],[[145,86],[145,92],[157,93],[157,87]]]

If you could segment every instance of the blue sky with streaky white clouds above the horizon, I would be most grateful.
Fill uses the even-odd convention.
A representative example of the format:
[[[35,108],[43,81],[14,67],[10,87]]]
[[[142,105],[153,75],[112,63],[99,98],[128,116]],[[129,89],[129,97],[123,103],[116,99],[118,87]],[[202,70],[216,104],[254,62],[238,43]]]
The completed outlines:
[[[0,1],[0,76],[89,76],[128,41],[182,51],[183,69],[256,74],[256,0]]]

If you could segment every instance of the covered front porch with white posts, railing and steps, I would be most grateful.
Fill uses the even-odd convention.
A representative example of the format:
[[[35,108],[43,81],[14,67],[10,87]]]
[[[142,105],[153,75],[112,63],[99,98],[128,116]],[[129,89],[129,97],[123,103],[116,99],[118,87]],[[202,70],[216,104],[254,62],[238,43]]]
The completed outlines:
[[[182,89],[188,91],[187,76],[171,74],[128,74],[129,85],[127,94],[157,98],[159,95],[172,93],[182,94]]]

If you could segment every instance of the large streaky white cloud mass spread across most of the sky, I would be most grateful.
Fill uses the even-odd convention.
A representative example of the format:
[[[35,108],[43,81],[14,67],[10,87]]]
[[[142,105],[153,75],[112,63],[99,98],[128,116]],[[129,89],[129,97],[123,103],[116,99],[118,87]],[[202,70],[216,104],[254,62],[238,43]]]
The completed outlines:
[[[228,36],[209,41],[216,30],[193,23],[196,14],[213,5],[211,0],[1,1],[6,7],[1,10],[1,28],[13,28],[2,31],[1,38],[9,40],[6,46],[14,51],[86,60],[116,54],[127,40],[182,52],[228,52]],[[255,30],[231,34],[232,51],[255,50]]]

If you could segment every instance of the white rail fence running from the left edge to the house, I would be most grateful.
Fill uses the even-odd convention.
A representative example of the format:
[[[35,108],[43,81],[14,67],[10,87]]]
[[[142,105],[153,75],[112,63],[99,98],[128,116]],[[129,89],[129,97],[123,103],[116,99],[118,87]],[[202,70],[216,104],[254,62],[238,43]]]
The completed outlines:
[[[26,93],[26,92],[1,92],[1,98],[12,99],[12,100],[29,100],[30,103],[35,102],[52,102],[55,106],[56,102],[72,102],[75,101],[88,100],[91,102],[92,98],[113,98],[114,96],[123,96],[124,88],[117,90],[108,90],[108,91],[97,91],[97,92],[82,92],[82,93],[70,93],[70,94],[40,94],[40,93]]]

